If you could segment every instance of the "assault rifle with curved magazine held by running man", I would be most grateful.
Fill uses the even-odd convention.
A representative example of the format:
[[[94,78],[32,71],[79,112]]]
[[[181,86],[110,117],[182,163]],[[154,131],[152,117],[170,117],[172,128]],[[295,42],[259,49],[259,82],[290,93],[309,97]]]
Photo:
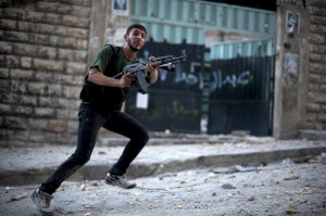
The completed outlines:
[[[151,64],[156,68],[173,72],[175,69],[175,65],[180,63],[181,61],[187,61],[187,55],[185,50],[183,50],[180,56],[176,56],[176,58],[173,55],[159,56],[155,58],[153,61],[141,61],[139,63],[127,65],[123,68],[123,72],[118,73],[113,77],[116,78],[126,73],[133,74],[134,75],[133,85],[137,86],[138,91],[140,91],[141,93],[148,93],[148,88],[151,85],[146,80],[147,73],[145,72],[146,72],[147,64]]]

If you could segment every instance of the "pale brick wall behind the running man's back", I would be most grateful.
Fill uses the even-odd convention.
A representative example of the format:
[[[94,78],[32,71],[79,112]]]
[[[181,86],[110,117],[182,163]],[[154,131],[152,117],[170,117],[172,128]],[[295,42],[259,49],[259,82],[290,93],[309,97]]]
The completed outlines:
[[[0,5],[0,145],[72,143],[91,0]]]

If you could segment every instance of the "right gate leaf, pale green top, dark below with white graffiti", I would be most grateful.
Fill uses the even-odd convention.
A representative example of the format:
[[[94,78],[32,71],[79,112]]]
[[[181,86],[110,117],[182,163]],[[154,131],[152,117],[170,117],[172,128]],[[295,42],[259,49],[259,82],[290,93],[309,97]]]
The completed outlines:
[[[212,49],[208,134],[272,134],[273,39],[216,43]]]

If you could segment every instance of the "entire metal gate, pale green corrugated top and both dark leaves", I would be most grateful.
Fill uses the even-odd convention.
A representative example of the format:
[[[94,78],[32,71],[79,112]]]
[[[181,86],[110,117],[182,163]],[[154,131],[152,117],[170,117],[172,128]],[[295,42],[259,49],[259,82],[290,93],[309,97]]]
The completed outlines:
[[[155,41],[142,56],[186,49],[189,59],[179,71],[161,73],[148,99],[131,92],[128,113],[150,130],[272,134],[275,12],[196,0],[130,2],[130,21],[147,26]],[[227,39],[247,41],[210,42]]]

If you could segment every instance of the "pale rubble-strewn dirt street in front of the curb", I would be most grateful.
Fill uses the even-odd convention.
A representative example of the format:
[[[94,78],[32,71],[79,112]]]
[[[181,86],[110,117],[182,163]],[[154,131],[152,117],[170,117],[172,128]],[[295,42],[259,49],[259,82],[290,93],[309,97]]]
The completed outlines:
[[[284,160],[260,166],[210,167],[131,179],[124,190],[102,180],[66,181],[53,199],[53,215],[223,216],[326,215],[325,155],[304,163]],[[36,186],[0,190],[1,216],[39,215],[29,194]]]

